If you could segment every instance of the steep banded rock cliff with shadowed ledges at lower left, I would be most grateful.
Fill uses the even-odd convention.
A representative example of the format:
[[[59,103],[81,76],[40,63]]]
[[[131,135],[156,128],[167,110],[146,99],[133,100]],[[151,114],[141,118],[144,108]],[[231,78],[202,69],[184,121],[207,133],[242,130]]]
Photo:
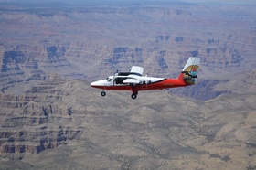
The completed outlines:
[[[72,109],[59,103],[66,94],[55,89],[63,83],[54,78],[24,95],[0,95],[2,156],[21,159],[25,154],[38,154],[78,138],[80,128],[69,124]]]

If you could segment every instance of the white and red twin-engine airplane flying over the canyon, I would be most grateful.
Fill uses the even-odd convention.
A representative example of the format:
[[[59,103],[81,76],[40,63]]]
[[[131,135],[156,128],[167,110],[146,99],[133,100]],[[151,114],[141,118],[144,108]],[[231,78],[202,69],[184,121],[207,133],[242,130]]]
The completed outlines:
[[[140,90],[163,90],[196,84],[199,63],[200,58],[188,58],[185,67],[176,79],[143,76],[144,68],[133,66],[129,72],[117,71],[105,80],[91,82],[91,87],[102,89],[102,97],[106,95],[104,90],[131,90],[131,98],[134,100]]]

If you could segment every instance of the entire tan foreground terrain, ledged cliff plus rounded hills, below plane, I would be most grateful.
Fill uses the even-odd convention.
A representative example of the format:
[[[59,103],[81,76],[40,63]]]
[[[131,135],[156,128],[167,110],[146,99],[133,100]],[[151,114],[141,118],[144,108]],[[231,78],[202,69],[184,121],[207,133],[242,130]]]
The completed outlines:
[[[255,165],[254,93],[197,101],[157,90],[141,92],[136,102],[130,93],[107,93],[102,98],[100,90],[92,90],[86,81],[52,75],[24,96],[2,94],[1,165],[32,169]],[[14,159],[12,164],[9,159]]]

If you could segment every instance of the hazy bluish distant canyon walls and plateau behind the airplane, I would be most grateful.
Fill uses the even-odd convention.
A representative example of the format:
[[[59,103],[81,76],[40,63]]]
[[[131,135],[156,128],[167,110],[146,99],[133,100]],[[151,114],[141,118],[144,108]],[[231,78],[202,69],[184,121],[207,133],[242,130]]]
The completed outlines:
[[[50,72],[95,80],[140,65],[176,77],[190,56],[201,58],[202,80],[255,68],[253,6],[61,6],[1,9],[3,92]]]

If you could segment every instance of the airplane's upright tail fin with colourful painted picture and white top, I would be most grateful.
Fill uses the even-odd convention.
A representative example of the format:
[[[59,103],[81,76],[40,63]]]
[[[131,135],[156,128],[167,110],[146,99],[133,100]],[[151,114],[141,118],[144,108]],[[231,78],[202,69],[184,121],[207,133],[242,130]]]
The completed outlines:
[[[182,69],[178,80],[184,80],[187,85],[196,84],[199,70],[200,58],[188,58],[185,67]]]

